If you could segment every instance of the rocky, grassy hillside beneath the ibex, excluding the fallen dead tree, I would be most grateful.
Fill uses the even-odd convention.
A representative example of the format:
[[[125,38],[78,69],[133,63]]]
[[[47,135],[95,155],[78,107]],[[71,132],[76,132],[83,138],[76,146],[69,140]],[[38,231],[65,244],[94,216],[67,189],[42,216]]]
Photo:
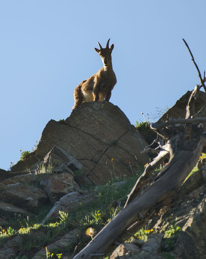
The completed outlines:
[[[159,121],[184,118],[189,96]],[[196,109],[205,103],[200,96]],[[148,130],[144,139],[106,101],[83,103],[66,120],[49,121],[28,158],[11,171],[0,169],[0,258],[73,258],[122,210],[150,162],[141,151],[151,136]],[[149,210],[147,221],[139,220],[132,242],[116,241],[119,246],[109,257],[98,258],[204,258],[203,162],[172,200]]]

